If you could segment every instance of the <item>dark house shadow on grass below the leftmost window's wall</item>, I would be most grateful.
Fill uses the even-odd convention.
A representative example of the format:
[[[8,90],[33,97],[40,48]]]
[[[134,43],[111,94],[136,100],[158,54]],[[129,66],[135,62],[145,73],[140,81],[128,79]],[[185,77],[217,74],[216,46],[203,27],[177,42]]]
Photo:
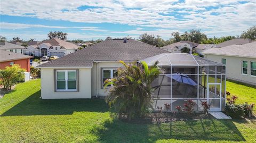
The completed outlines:
[[[103,99],[41,99],[41,90],[10,108],[1,116],[65,115],[73,112],[107,112]]]

